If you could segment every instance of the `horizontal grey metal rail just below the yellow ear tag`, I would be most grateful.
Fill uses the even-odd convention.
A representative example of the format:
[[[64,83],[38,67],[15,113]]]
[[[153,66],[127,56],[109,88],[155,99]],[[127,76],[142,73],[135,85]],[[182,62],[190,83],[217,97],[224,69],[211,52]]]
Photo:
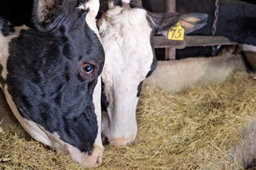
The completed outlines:
[[[230,39],[222,36],[186,36],[184,41],[169,40],[165,37],[154,37],[154,46],[156,48],[173,47],[175,49],[184,49],[190,46],[213,46],[213,45],[234,45]]]

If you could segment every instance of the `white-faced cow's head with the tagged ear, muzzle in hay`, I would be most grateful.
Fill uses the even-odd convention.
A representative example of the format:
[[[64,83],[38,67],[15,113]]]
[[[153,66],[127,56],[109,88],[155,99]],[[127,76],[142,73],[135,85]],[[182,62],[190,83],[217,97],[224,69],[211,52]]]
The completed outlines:
[[[207,15],[151,13],[140,0],[103,0],[100,5],[97,24],[106,56],[102,133],[110,144],[124,145],[136,137],[140,87],[157,66],[153,36],[166,36],[177,22],[192,32],[206,24]]]

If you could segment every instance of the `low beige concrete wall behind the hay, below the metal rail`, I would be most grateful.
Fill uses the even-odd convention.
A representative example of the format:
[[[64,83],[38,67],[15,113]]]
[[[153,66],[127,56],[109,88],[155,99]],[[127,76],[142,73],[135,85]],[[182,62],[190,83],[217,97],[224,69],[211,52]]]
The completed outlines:
[[[158,62],[157,70],[146,83],[151,87],[180,92],[191,86],[223,83],[235,70],[246,70],[240,55]]]

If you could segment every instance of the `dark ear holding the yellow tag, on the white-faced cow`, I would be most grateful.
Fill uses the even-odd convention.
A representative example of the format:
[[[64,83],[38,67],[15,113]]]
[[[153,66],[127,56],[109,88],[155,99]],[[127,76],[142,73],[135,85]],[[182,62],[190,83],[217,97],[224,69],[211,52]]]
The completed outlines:
[[[157,34],[167,36],[168,31],[178,22],[185,33],[203,28],[207,24],[208,15],[204,13],[152,13],[147,12]]]

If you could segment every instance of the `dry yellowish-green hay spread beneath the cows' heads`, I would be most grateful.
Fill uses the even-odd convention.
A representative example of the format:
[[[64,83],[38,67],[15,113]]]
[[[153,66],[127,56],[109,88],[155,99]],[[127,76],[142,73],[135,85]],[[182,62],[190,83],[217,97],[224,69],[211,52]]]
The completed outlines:
[[[256,79],[246,73],[235,74],[224,85],[177,94],[144,89],[136,141],[105,146],[100,168],[239,168],[230,151],[239,141],[239,127],[255,116],[255,99]],[[18,127],[0,134],[0,167],[82,168],[39,142],[25,140]]]

